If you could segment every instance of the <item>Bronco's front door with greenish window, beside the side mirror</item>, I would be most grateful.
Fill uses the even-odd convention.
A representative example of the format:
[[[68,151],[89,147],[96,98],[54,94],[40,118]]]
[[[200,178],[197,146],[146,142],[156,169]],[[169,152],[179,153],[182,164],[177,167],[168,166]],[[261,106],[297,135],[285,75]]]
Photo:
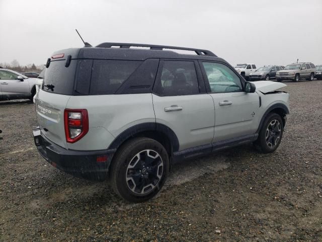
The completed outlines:
[[[255,134],[259,96],[244,91],[239,76],[224,63],[200,62],[215,106],[213,142]]]

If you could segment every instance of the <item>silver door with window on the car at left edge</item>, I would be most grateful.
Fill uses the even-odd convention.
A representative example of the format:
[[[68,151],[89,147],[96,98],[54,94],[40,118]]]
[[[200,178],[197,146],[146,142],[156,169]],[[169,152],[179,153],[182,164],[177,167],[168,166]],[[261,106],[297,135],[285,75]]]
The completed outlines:
[[[29,97],[31,95],[28,79],[19,80],[18,74],[1,70],[0,85],[4,99]]]

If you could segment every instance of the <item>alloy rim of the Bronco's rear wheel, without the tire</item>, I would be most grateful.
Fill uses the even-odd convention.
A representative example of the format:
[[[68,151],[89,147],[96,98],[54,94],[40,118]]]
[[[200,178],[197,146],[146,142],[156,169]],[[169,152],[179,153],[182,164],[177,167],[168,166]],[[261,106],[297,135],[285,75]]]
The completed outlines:
[[[146,194],[159,183],[164,163],[154,150],[142,150],[130,161],[126,169],[126,184],[136,194]]]

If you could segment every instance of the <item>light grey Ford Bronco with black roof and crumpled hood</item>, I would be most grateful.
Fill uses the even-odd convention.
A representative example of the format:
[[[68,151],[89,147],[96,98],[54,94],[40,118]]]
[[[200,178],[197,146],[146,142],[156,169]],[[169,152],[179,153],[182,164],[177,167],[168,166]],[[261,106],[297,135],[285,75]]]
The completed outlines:
[[[67,173],[109,178],[130,202],[157,194],[175,161],[281,142],[289,94],[276,90],[286,85],[246,82],[209,50],[102,43],[51,56],[36,99],[39,153]]]

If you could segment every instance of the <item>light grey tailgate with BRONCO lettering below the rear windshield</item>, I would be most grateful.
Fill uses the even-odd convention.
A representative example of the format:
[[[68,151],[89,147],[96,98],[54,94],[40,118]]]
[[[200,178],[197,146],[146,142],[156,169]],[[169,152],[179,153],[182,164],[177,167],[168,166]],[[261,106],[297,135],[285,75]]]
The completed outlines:
[[[67,148],[64,130],[64,109],[70,96],[39,90],[36,101],[38,124],[43,136]]]

